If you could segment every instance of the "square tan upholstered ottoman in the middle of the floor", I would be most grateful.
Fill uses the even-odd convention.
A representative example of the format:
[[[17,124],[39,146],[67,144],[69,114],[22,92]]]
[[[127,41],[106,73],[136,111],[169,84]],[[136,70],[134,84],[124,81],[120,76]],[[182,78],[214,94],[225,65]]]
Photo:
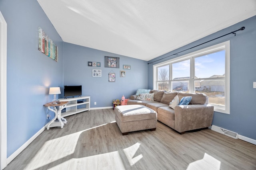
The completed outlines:
[[[114,110],[116,123],[122,135],[132,131],[156,130],[157,114],[153,109],[143,105],[123,105],[116,106]]]

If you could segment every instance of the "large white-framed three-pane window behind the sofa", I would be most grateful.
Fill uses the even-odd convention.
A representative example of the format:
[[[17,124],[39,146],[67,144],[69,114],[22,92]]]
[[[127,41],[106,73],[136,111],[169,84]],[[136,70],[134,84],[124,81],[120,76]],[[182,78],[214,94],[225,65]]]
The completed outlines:
[[[154,89],[204,93],[214,111],[230,111],[229,41],[154,65]]]

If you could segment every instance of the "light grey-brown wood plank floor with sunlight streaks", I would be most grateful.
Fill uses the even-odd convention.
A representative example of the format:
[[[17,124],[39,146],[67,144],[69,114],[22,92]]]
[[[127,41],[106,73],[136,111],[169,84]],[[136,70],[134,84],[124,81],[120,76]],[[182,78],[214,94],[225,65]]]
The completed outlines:
[[[65,118],[63,129],[45,130],[4,170],[186,170],[205,153],[220,170],[256,170],[256,145],[210,129],[180,135],[158,122],[156,131],[122,136],[113,109]]]

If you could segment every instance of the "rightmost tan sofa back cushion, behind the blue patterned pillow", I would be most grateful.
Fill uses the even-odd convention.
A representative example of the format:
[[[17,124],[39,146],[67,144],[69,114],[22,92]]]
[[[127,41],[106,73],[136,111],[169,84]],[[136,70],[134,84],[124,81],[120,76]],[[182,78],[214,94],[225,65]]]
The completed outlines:
[[[186,96],[192,96],[190,104],[205,104],[207,96],[204,93],[178,93],[179,99]]]

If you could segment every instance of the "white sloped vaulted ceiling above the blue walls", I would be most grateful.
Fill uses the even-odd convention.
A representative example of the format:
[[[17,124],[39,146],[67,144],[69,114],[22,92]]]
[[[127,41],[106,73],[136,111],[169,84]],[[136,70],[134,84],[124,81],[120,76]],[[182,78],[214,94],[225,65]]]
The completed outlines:
[[[256,0],[38,0],[38,3],[64,42],[144,61],[256,15]]]

